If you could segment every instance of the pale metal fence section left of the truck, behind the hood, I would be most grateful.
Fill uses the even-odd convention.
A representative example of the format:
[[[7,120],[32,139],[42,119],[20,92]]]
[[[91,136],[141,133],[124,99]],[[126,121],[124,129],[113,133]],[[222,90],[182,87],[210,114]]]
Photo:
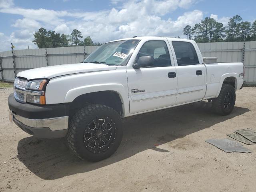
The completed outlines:
[[[0,79],[13,82],[15,74],[21,71],[82,62],[99,46],[58,47],[24,49],[0,52]]]

